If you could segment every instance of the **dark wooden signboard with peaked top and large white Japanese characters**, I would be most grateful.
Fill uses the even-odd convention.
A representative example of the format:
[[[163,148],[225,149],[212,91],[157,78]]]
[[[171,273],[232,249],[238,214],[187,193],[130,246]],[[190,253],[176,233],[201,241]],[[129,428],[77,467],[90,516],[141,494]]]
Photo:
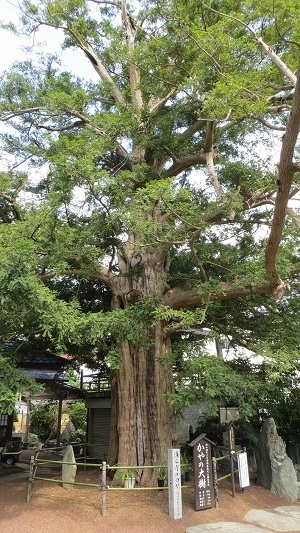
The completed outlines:
[[[196,511],[209,509],[215,503],[211,459],[212,445],[214,443],[205,437],[205,433],[190,443],[193,448]]]

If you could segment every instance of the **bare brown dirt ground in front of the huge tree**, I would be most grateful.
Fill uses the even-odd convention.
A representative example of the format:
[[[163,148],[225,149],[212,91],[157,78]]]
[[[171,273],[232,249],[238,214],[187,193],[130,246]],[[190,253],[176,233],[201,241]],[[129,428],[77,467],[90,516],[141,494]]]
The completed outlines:
[[[23,465],[24,467],[24,465]],[[22,469],[20,468],[20,471]],[[37,474],[38,475],[38,474]],[[44,474],[41,477],[46,477]],[[97,469],[80,468],[76,481],[98,483]],[[96,487],[64,489],[58,483],[36,480],[26,504],[27,480],[2,478],[0,531],[32,533],[177,533],[187,527],[218,521],[245,522],[250,509],[272,510],[289,502],[252,484],[244,494],[224,480],[219,486],[219,509],[195,511],[192,484],[182,489],[183,518],[168,516],[167,491],[107,491],[107,513],[101,516],[101,492]]]

